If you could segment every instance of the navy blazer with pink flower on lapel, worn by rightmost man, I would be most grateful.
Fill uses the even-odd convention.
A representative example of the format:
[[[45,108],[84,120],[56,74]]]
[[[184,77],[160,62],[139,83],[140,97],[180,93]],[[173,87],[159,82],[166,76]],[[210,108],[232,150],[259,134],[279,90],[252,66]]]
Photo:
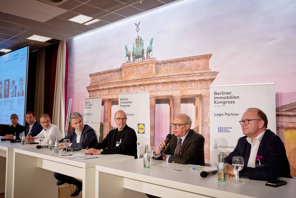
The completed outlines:
[[[291,178],[286,150],[279,136],[266,129],[257,152],[257,155],[262,156],[260,163],[264,166],[255,168],[247,167],[251,145],[246,138],[247,136],[239,138],[234,151],[224,159],[225,163],[232,164],[232,157],[242,156],[244,158],[244,167],[239,172],[240,177],[245,176],[249,179],[265,181],[273,180],[277,177]],[[255,163],[258,164],[257,161]]]

